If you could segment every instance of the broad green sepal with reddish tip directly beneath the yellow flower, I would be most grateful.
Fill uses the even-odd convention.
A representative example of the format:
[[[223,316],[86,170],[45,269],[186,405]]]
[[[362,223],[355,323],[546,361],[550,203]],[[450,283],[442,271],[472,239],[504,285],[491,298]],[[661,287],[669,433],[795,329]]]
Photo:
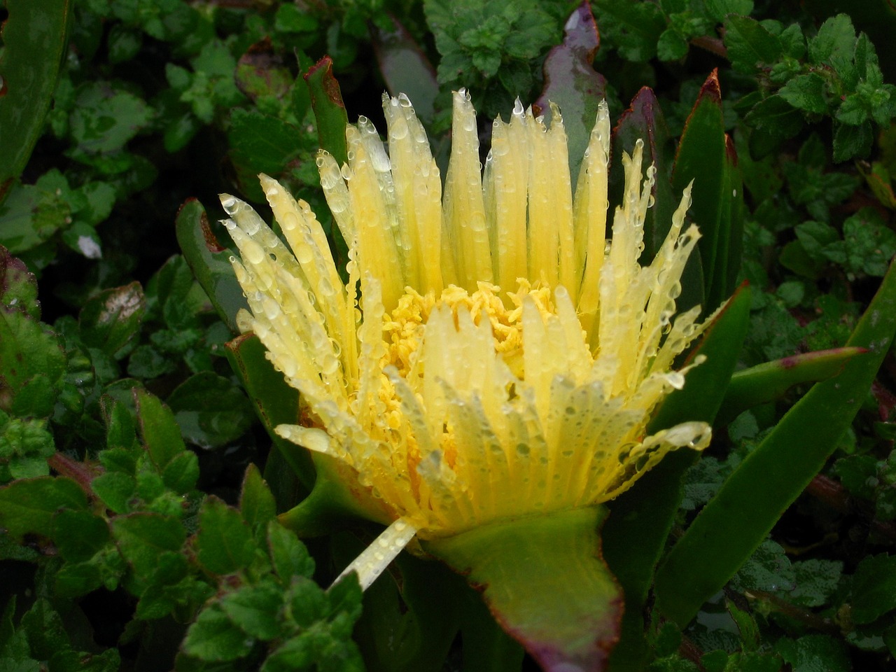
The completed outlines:
[[[602,668],[622,595],[600,557],[600,507],[495,522],[426,542],[465,573],[504,629],[547,672]]]

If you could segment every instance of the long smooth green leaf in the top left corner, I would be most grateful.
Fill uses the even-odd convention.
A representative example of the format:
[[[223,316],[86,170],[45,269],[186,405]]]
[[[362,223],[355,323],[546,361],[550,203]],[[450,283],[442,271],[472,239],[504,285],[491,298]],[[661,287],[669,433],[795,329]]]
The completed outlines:
[[[66,54],[72,0],[6,0],[0,57],[0,202],[43,132]]]

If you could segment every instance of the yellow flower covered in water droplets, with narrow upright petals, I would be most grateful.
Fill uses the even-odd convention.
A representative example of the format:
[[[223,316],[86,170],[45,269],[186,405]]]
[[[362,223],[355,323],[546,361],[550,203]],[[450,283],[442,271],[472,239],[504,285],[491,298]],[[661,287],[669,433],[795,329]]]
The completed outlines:
[[[480,172],[475,112],[454,94],[444,194],[406,97],[383,97],[384,145],[364,117],[349,162],[321,152],[321,184],[349,246],[349,282],[306,202],[262,185],[289,248],[245,203],[225,224],[254,331],[301,392],[304,426],[278,433],[348,465],[394,521],[352,568],[369,583],[415,534],[599,504],[663,455],[702,449],[700,422],[647,435],[684,384],[673,360],[702,326],[675,314],[696,243],[690,189],[649,266],[638,262],[654,169],[625,154],[607,242],[609,116],[601,105],[575,188],[559,110],[519,101],[494,123]],[[291,248],[291,252],[290,252]],[[360,295],[358,296],[358,287]],[[357,484],[356,484],[357,485]]]

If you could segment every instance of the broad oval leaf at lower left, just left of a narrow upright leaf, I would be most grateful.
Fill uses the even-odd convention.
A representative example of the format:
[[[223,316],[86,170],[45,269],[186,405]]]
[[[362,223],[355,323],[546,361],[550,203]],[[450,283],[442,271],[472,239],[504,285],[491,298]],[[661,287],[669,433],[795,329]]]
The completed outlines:
[[[251,530],[237,509],[210,496],[199,512],[196,552],[206,570],[229,574],[252,562],[255,544]]]

